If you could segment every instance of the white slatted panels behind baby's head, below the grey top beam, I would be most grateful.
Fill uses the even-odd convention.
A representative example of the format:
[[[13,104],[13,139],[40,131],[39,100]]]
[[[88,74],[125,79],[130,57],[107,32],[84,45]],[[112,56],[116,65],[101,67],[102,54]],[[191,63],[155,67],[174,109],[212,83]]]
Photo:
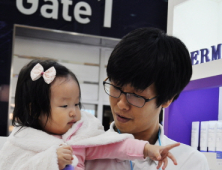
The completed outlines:
[[[59,63],[76,74],[81,83],[82,99],[98,101],[98,84],[82,83],[99,82],[100,47],[16,37],[14,54],[57,59]],[[29,61],[31,59],[15,56],[13,59],[13,74],[18,74]],[[96,66],[85,65],[87,63]],[[12,78],[12,96],[15,94],[15,83],[15,78]]]

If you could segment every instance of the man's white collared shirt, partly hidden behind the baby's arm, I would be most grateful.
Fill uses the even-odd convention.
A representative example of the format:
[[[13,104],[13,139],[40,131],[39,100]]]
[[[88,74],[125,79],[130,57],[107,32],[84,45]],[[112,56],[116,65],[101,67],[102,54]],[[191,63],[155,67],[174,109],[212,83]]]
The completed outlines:
[[[114,122],[110,125],[110,131],[113,129]],[[163,127],[160,125],[160,140],[161,145],[173,144],[175,141],[164,135]],[[157,141],[155,145],[159,145]],[[174,165],[171,160],[168,161],[166,170],[209,170],[208,162],[204,154],[194,148],[181,144],[170,151],[177,160],[178,165]],[[155,170],[157,162],[149,158],[144,160],[134,160],[133,170]],[[94,160],[86,162],[86,170],[130,170],[129,161],[123,160]]]

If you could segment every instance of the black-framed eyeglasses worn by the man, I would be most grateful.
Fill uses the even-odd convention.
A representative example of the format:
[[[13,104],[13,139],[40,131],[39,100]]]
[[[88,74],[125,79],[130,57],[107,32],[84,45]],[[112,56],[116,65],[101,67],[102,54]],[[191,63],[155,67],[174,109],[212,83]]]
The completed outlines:
[[[122,93],[125,94],[126,99],[127,99],[127,94],[133,94],[133,95],[135,95],[135,96],[138,96],[138,97],[141,97],[141,98],[144,99],[144,101],[145,101],[144,104],[143,104],[143,106],[144,106],[145,103],[147,103],[147,102],[149,102],[149,101],[151,101],[151,100],[153,100],[153,99],[156,99],[156,98],[158,97],[158,95],[157,95],[157,96],[155,96],[155,97],[153,97],[153,98],[151,98],[151,99],[146,99],[145,97],[140,96],[140,95],[137,95],[137,94],[135,94],[135,93],[124,92],[124,91],[122,91],[121,88],[116,87],[116,86],[114,86],[113,84],[110,84],[110,83],[106,82],[106,80],[108,80],[108,77],[103,81],[103,87],[104,87],[104,91],[105,91],[105,92],[106,92],[106,90],[105,90],[105,84],[109,84],[109,85],[113,86],[114,88],[118,89],[118,90],[121,92],[120,95],[119,95],[118,97],[111,96],[110,94],[108,94],[108,93],[106,92],[106,94],[108,94],[109,96],[111,96],[111,97],[113,97],[113,98],[116,98],[116,99],[119,98],[119,97],[121,96]],[[136,105],[130,103],[130,102],[128,101],[128,99],[127,99],[127,102],[128,102],[129,104],[135,106],[135,107],[138,107],[138,108],[142,108],[142,107],[143,107],[143,106],[139,107],[139,106],[136,106]]]

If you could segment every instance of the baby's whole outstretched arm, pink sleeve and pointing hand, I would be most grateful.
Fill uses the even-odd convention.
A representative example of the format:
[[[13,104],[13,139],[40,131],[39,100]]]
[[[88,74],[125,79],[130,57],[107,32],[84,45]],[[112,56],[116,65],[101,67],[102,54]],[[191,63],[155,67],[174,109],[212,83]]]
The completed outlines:
[[[165,169],[168,164],[167,157],[177,165],[176,159],[169,150],[179,145],[179,143],[175,143],[166,146],[157,146],[150,145],[148,142],[142,140],[126,139],[118,143],[86,148],[85,159],[117,158],[122,160],[133,160],[149,157],[152,160],[159,161],[157,168],[163,165],[163,169]]]

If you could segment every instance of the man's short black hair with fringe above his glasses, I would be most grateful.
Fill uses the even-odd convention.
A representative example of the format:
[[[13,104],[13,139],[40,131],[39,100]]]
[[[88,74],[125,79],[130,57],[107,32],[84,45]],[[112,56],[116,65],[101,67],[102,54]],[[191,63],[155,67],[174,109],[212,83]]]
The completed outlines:
[[[190,81],[192,65],[186,46],[178,38],[157,28],[139,28],[116,45],[107,75],[118,86],[131,84],[136,90],[154,83],[159,107],[178,98]]]

